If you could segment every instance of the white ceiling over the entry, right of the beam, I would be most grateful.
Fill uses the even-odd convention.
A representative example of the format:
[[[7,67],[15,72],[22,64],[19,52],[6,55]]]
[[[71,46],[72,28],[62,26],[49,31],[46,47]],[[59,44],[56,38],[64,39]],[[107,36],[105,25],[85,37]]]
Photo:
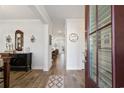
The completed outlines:
[[[67,18],[83,18],[81,5],[45,5],[48,15],[54,22],[64,22]]]

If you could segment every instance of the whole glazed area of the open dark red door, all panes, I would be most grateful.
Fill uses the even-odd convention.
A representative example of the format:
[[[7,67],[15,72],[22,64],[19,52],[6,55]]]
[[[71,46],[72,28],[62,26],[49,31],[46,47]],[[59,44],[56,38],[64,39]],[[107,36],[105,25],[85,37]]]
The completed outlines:
[[[89,33],[95,31],[89,34],[90,78],[96,84],[98,80],[98,87],[112,87],[111,24],[105,27],[111,23],[111,6],[90,6],[89,19]]]

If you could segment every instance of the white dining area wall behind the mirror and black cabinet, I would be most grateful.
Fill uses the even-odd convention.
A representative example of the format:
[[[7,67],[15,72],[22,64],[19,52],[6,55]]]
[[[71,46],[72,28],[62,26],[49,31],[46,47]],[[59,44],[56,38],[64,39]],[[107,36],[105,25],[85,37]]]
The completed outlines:
[[[44,69],[45,62],[48,59],[48,26],[43,25],[40,20],[0,20],[0,51],[5,50],[5,37],[12,36],[14,44],[15,31],[21,30],[24,32],[24,50],[30,47],[33,53],[32,68]],[[31,35],[36,37],[34,43],[30,42]]]

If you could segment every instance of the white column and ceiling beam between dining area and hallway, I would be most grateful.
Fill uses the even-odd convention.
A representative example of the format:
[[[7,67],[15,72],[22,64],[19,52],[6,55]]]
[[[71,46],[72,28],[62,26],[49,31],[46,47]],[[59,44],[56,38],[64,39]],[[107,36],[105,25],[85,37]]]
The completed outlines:
[[[52,34],[52,22],[51,19],[46,11],[46,9],[44,8],[44,6],[34,6],[32,7],[33,10],[35,10],[35,14],[39,14],[40,15],[40,19],[41,21],[46,24],[45,28],[46,28],[46,32],[45,32],[45,62],[44,62],[44,71],[48,71],[50,69],[50,67],[52,66],[52,54],[51,54],[51,48],[52,46],[49,45],[49,35]]]

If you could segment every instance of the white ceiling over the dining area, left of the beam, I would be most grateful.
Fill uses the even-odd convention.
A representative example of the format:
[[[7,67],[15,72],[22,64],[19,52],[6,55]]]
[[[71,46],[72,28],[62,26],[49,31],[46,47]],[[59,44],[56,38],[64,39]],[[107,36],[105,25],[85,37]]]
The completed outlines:
[[[0,19],[38,19],[27,5],[0,5]]]

